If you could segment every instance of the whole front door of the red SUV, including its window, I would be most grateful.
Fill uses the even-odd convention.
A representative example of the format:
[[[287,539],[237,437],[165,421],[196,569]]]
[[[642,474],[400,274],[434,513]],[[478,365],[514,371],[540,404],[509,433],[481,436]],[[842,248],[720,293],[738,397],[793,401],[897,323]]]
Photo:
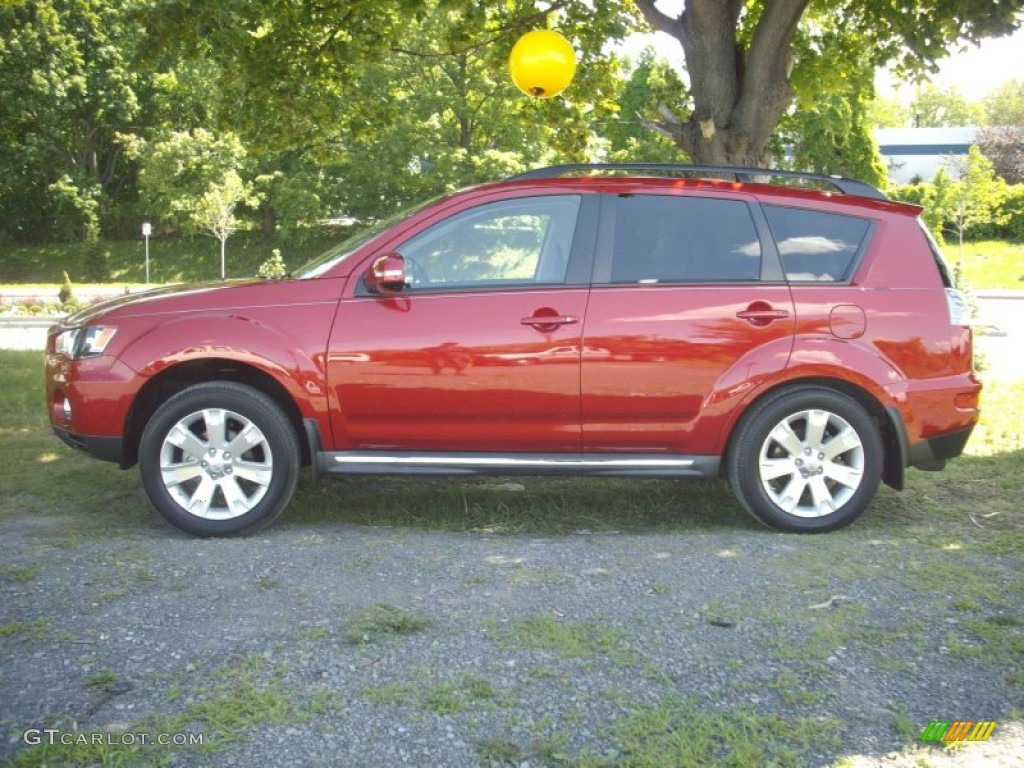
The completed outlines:
[[[399,245],[410,282],[390,295],[356,291],[338,309],[328,355],[337,447],[580,451],[589,288],[566,282],[592,263],[596,203],[489,201]]]

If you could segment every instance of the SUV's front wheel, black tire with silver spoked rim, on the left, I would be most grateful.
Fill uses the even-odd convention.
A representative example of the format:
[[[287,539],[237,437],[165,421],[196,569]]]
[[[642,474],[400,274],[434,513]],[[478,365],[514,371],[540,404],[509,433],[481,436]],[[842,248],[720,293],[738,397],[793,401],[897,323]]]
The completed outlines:
[[[233,382],[197,384],[169,398],[145,425],[138,451],[150,501],[199,537],[242,536],[272,522],[292,500],[299,462],[281,408]]]

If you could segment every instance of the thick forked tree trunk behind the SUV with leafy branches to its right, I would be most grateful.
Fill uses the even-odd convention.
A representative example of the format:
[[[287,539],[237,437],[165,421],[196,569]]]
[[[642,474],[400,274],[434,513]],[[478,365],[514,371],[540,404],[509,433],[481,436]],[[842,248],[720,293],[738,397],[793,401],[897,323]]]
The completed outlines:
[[[934,67],[947,46],[1019,25],[1019,0],[686,0],[679,12],[635,0],[679,41],[692,103],[662,130],[697,162],[758,165],[794,93],[850,92],[864,63],[903,73]]]

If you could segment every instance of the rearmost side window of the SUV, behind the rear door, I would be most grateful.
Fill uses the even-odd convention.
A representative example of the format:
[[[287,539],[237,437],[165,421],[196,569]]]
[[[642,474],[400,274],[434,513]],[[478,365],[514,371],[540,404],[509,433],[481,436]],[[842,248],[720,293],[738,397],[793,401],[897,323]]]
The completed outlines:
[[[869,219],[803,208],[764,206],[791,283],[838,283],[850,276],[871,228]]]

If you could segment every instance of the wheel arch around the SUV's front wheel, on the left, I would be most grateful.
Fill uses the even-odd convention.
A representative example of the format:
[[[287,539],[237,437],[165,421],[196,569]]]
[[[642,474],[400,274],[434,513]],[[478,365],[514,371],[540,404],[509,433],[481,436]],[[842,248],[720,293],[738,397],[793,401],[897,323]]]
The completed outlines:
[[[229,381],[246,384],[272,399],[288,417],[295,430],[303,465],[310,463],[309,441],[303,426],[303,416],[298,403],[285,386],[273,376],[255,366],[229,358],[203,357],[184,360],[152,376],[132,400],[125,423],[122,469],[138,461],[139,441],[146,423],[169,397],[194,384],[211,381]]]

